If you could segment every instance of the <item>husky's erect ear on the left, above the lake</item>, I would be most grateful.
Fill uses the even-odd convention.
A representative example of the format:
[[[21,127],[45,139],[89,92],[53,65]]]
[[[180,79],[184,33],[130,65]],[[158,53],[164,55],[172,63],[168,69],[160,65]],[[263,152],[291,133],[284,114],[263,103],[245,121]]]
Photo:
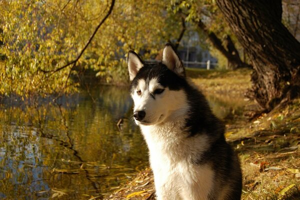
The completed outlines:
[[[129,79],[133,80],[138,70],[143,66],[143,61],[133,50],[129,50],[127,55],[127,64],[129,71]]]

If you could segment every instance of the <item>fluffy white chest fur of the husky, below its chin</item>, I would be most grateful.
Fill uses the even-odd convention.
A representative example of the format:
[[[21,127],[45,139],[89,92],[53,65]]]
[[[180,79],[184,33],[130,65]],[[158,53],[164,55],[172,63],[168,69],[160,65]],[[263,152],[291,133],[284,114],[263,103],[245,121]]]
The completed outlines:
[[[142,127],[149,148],[157,197],[207,199],[212,188],[213,170],[208,164],[192,163],[206,149],[206,137],[186,139],[180,131],[176,125]]]

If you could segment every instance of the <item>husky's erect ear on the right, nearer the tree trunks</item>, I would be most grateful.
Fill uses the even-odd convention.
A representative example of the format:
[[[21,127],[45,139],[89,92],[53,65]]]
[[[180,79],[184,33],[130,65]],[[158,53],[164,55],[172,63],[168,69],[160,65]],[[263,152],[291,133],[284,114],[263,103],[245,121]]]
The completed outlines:
[[[183,64],[171,44],[164,45],[161,61],[177,75],[185,77]]]

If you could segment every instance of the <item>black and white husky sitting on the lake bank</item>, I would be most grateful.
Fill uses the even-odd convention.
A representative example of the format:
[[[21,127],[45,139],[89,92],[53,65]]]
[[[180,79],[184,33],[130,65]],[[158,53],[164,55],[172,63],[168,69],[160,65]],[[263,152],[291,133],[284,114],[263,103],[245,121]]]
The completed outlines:
[[[127,56],[133,117],[149,148],[158,199],[240,199],[241,171],[224,125],[185,78],[170,44],[159,63]]]

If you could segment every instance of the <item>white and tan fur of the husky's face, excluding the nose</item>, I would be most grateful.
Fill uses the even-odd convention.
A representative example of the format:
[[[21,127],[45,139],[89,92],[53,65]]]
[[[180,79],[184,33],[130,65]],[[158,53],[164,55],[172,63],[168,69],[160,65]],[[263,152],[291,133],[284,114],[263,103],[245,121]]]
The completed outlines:
[[[143,110],[146,113],[142,120],[135,120],[137,125],[152,125],[174,119],[188,108],[183,90],[169,90],[159,84],[157,78],[137,80],[131,96],[134,101],[133,112]]]

